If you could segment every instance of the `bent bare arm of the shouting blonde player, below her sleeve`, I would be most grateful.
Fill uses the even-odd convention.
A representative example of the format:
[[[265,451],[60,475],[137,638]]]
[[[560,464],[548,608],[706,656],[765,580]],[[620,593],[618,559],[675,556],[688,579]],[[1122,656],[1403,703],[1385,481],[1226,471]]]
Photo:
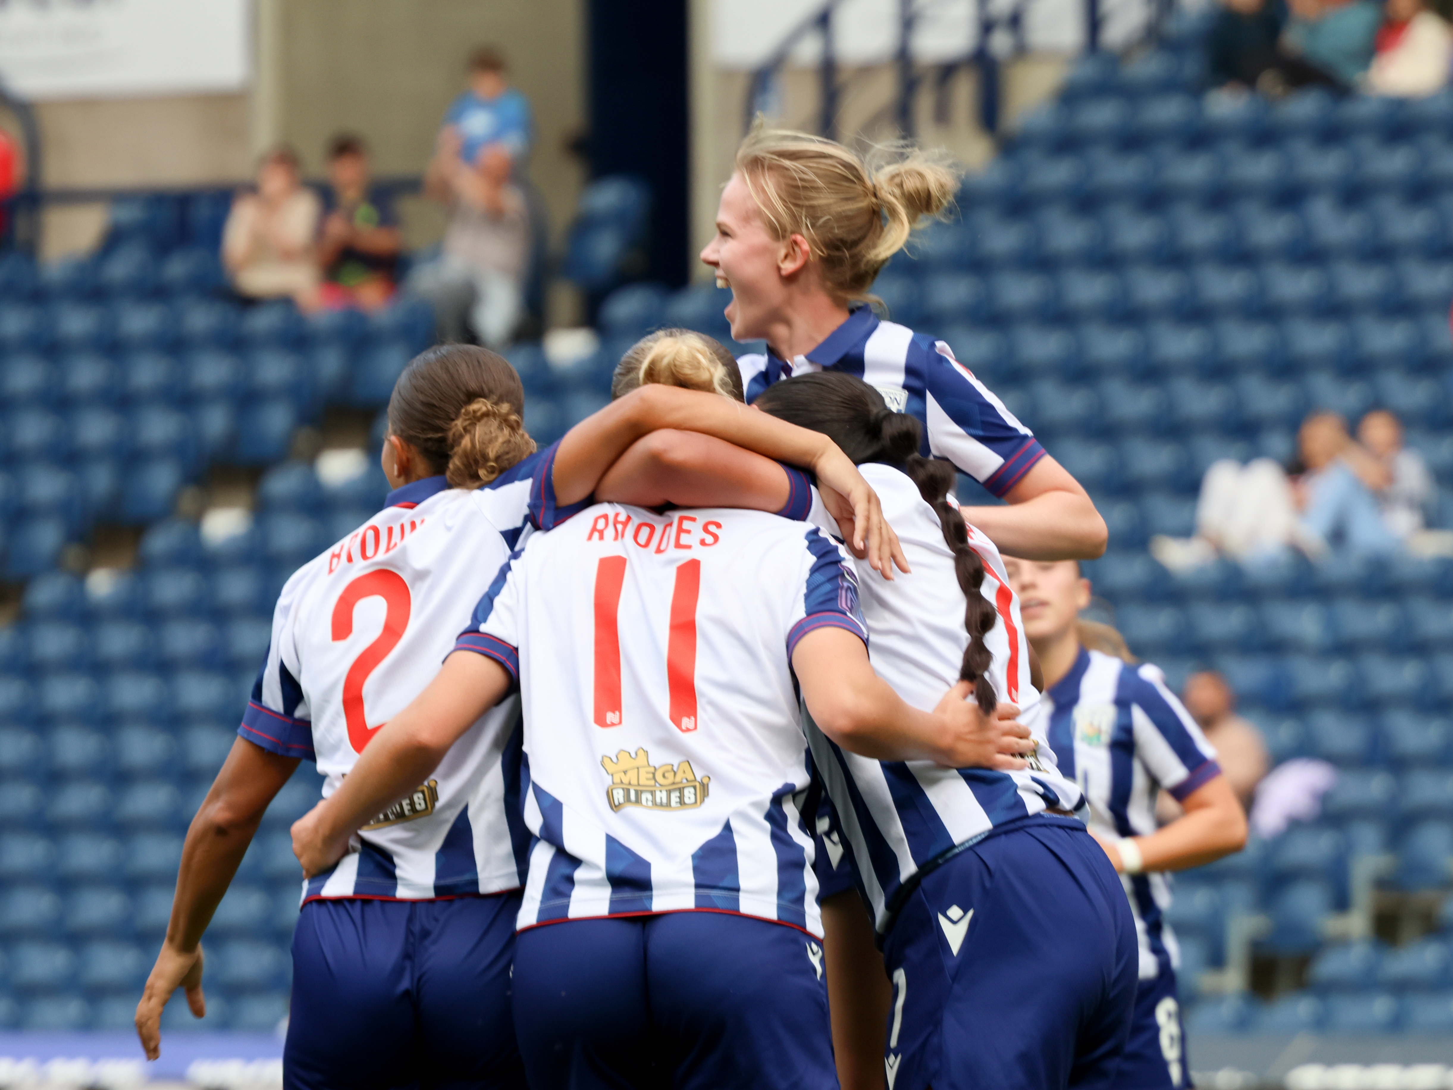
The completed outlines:
[[[1004,496],[1005,507],[965,507],[1001,552],[1026,560],[1094,560],[1109,530],[1094,500],[1059,462],[1040,458]]]

